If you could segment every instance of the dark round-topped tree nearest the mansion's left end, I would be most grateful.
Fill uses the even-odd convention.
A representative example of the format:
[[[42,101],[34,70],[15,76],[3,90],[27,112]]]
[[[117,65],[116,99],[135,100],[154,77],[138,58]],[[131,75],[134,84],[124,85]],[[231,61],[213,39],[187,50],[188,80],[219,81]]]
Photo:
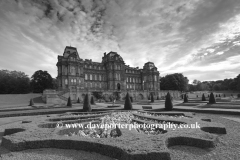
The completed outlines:
[[[31,77],[33,93],[42,93],[45,89],[53,89],[53,78],[47,71],[38,70]]]

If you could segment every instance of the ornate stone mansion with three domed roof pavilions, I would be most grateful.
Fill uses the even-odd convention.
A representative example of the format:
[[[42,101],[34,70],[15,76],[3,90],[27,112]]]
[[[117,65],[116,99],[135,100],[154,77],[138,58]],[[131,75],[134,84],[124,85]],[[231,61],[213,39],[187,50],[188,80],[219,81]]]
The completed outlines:
[[[129,92],[135,99],[160,93],[159,71],[154,63],[145,63],[143,69],[130,67],[116,52],[104,53],[102,62],[93,62],[81,59],[76,48],[67,46],[63,56],[58,56],[57,67],[58,90],[68,90],[73,100],[86,92],[120,97]]]

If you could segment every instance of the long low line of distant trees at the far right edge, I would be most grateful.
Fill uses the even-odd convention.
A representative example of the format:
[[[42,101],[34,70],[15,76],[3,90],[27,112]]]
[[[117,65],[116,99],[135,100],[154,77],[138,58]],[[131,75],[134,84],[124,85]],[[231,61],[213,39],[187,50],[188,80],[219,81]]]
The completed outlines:
[[[193,84],[189,85],[189,91],[240,91],[240,74],[235,78],[217,80],[217,81],[203,81],[194,80]]]

